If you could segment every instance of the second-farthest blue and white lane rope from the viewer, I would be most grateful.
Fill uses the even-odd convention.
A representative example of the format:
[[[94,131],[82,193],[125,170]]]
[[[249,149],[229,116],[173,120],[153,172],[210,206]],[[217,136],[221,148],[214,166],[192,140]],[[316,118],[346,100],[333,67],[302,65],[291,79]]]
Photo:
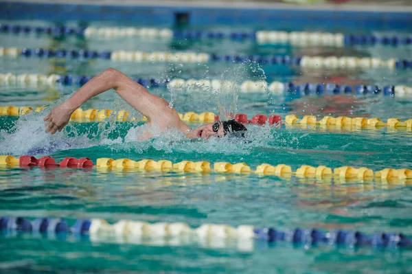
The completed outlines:
[[[97,52],[87,49],[27,49],[17,47],[0,47],[0,56],[17,58],[19,56],[37,56],[38,58],[102,58],[112,61],[127,62],[258,62],[262,65],[296,65],[305,68],[334,68],[334,69],[369,69],[386,67],[389,69],[412,69],[412,60],[395,59],[382,60],[380,58],[358,58],[354,56],[243,56],[243,55],[219,55],[195,52]]]

